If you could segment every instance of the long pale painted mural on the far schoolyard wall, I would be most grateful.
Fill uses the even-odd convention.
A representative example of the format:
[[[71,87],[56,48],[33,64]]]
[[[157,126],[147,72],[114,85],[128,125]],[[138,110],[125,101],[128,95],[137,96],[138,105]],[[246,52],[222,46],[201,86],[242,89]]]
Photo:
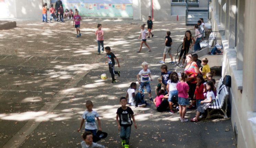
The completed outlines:
[[[80,16],[133,17],[132,0],[62,0],[62,3],[64,10],[77,9]]]

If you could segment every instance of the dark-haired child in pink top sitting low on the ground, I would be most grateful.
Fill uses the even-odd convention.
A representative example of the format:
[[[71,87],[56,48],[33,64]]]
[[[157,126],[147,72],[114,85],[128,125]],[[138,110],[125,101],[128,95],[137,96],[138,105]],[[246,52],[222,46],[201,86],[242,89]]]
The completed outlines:
[[[154,104],[156,105],[156,110],[157,111],[159,111],[159,112],[166,111],[167,107],[169,106],[167,98],[168,98],[168,95],[165,95],[164,90],[160,90],[157,93],[157,96],[154,99]]]

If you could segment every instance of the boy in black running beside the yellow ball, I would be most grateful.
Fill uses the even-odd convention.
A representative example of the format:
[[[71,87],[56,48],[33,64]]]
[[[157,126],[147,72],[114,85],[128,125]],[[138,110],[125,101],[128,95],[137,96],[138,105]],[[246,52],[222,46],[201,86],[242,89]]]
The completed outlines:
[[[118,58],[112,52],[110,52],[111,49],[110,49],[109,46],[105,47],[105,50],[106,50],[107,58],[108,58],[108,60],[105,62],[105,64],[106,63],[109,64],[109,72],[110,72],[111,78],[112,78],[112,82],[111,83],[115,83],[115,74],[117,74],[118,77],[120,77],[120,71],[115,71],[114,70],[115,59],[116,59],[116,62],[118,63],[118,67],[120,67],[120,64],[119,64]]]

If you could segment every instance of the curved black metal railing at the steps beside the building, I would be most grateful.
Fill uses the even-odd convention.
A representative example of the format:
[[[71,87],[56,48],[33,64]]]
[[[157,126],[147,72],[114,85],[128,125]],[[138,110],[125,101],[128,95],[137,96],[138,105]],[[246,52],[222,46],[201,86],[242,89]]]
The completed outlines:
[[[205,31],[205,32],[203,32],[203,33],[208,33],[208,34],[209,34],[209,33],[212,33],[212,32],[217,32],[217,33],[219,33],[218,31]],[[202,35],[203,33],[201,33],[201,34],[199,34],[199,35]],[[197,35],[197,36],[199,36],[199,35]],[[195,36],[195,37],[197,37],[197,36]],[[194,37],[194,38],[195,38],[195,37]],[[202,48],[207,48],[207,50],[208,50],[208,52],[209,52],[209,47],[213,47],[212,45],[209,46],[209,40],[211,40],[211,39],[215,40],[215,41],[213,42],[214,45],[216,44],[216,40],[221,40],[221,38],[215,38],[215,37],[214,37],[214,38],[210,38],[210,37],[208,37],[208,38],[204,38],[204,39],[200,40],[197,44],[200,44],[200,42],[207,40],[207,46],[202,47]],[[178,49],[177,49],[177,54],[176,54],[176,56],[175,56],[175,64],[176,64],[178,67],[180,67],[180,66],[176,63],[176,59],[179,58],[179,53],[181,52],[182,44],[183,44],[183,42],[179,45],[179,47],[178,47]],[[195,44],[193,44],[192,46],[194,46],[194,45],[195,45]],[[200,48],[199,51],[202,50],[202,48]],[[191,50],[189,50],[189,52],[188,52],[187,54],[189,54],[189,53],[193,54],[194,52],[197,52],[197,51],[192,51],[192,47],[191,47]],[[208,52],[207,52],[207,53],[208,53]],[[181,60],[182,60],[182,59],[181,59]],[[186,62],[186,61],[185,61],[185,62]]]

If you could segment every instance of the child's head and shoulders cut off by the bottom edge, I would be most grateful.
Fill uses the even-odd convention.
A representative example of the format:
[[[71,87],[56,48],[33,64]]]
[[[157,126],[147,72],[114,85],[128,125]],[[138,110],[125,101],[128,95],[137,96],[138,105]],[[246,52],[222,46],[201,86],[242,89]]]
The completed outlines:
[[[92,142],[93,135],[91,132],[84,132],[83,141],[81,142],[82,148],[105,148],[102,145]]]

